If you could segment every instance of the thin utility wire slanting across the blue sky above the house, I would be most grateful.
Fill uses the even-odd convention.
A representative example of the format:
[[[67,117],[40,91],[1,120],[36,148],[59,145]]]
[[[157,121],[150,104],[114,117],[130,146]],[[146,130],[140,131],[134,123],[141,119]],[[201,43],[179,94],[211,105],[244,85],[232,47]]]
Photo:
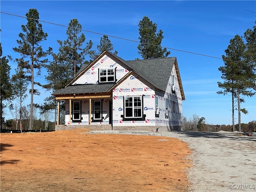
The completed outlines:
[[[17,16],[17,17],[21,17],[21,18],[26,18],[26,19],[37,20],[37,21],[40,21],[40,22],[44,22],[44,23],[48,23],[48,24],[53,24],[53,25],[58,25],[58,26],[62,26],[62,27],[73,28],[73,27],[66,26],[66,25],[62,25],[62,24],[58,24],[58,23],[48,22],[48,21],[39,20],[39,19],[34,19],[34,18],[28,18],[28,17],[26,17],[26,16],[20,16],[20,15],[16,15],[16,14],[12,14],[12,13],[2,12],[2,11],[0,11],[0,13],[12,15],[12,16]],[[74,29],[75,29],[75,28],[74,28]],[[190,51],[185,51],[185,50],[180,50],[180,49],[175,49],[175,48],[160,46],[160,45],[154,45],[154,44],[150,44],[150,43],[143,43],[143,42],[140,42],[140,41],[131,40],[131,39],[122,38],[122,37],[113,36],[113,35],[108,35],[108,34],[103,34],[103,33],[100,33],[100,32],[94,32],[94,31],[84,30],[84,29],[80,29],[80,30],[81,30],[81,31],[85,31],[85,32],[89,32],[89,33],[94,33],[94,34],[99,34],[99,35],[105,35],[105,36],[109,36],[109,37],[113,37],[113,38],[118,38],[118,39],[122,39],[122,40],[127,40],[127,41],[131,41],[131,42],[136,42],[136,43],[141,43],[141,44],[146,44],[146,45],[157,46],[157,47],[166,48],[166,49],[170,49],[170,50],[175,50],[175,51],[180,51],[180,52],[185,52],[185,53],[190,53],[190,54],[196,54],[196,55],[200,55],[200,56],[206,56],[206,57],[210,57],[210,58],[216,58],[216,59],[221,59],[221,60],[232,61],[232,62],[239,62],[239,63],[244,63],[244,64],[246,64],[245,62],[240,62],[240,61],[235,61],[235,60],[228,60],[228,59],[223,59],[223,58],[216,57],[216,56],[210,56],[210,55],[206,55],[206,54],[200,54],[200,53],[195,53],[195,52],[190,52]]]

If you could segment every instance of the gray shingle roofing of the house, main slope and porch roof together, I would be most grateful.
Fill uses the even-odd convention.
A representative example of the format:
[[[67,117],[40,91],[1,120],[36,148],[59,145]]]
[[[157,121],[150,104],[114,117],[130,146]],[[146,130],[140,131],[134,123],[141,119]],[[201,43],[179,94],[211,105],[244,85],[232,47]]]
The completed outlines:
[[[110,52],[108,53],[111,54]],[[166,90],[176,57],[125,61],[114,54],[111,55],[126,64],[129,68],[131,68],[132,71],[144,78],[156,88],[163,91]],[[88,67],[88,64],[82,66],[76,76],[86,69],[86,67]],[[114,86],[114,84],[70,85],[54,92],[53,95],[108,92],[112,86]]]

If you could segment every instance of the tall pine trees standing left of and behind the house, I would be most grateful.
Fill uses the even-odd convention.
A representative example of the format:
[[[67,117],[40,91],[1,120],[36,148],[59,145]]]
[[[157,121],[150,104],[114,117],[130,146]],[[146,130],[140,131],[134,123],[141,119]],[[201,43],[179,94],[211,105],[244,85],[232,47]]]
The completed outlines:
[[[50,92],[55,92],[64,88],[79,72],[84,64],[89,64],[96,59],[104,50],[117,55],[117,51],[113,51],[113,45],[104,35],[100,38],[100,45],[97,50],[92,50],[93,43],[91,40],[86,42],[86,37],[82,33],[82,26],[77,19],[72,19],[66,30],[67,39],[57,40],[59,49],[54,53],[49,47],[44,50],[41,46],[42,42],[47,39],[48,34],[42,29],[42,24],[39,20],[39,13],[36,9],[30,9],[26,13],[27,24],[22,25],[22,32],[18,34],[17,47],[14,47],[14,52],[21,55],[20,58],[12,58],[9,60],[16,62],[16,74],[10,77],[9,60],[6,56],[2,57],[1,48],[1,99],[0,99],[0,123],[5,123],[4,111],[7,107],[14,110],[13,121],[20,126],[22,122],[27,122],[28,130],[33,129],[35,110],[39,109],[40,116],[48,114],[52,110],[56,110],[56,100],[50,96],[44,100],[44,104],[34,104],[34,95],[39,95],[40,92],[34,88],[34,85],[41,86]],[[162,30],[157,31],[157,25],[148,17],[143,17],[138,24],[140,34],[140,44],[138,45],[138,54],[143,59],[167,57],[170,52],[166,48],[161,47],[162,39],[164,38]],[[52,60],[49,60],[52,56]],[[86,58],[90,59],[86,59]],[[138,58],[136,58],[138,59]],[[42,68],[45,68],[48,75],[45,76],[47,84],[35,81],[35,76],[41,75]],[[31,88],[28,90],[28,85]],[[24,106],[24,100],[30,94],[30,105]],[[16,103],[14,104],[16,100]],[[30,108],[29,113],[27,109]],[[60,123],[64,122],[65,105],[60,103]],[[25,114],[26,113],[26,114]],[[27,116],[29,114],[29,117]],[[8,123],[10,124],[10,122]],[[25,126],[25,124],[24,124]],[[16,126],[17,127],[17,126]]]

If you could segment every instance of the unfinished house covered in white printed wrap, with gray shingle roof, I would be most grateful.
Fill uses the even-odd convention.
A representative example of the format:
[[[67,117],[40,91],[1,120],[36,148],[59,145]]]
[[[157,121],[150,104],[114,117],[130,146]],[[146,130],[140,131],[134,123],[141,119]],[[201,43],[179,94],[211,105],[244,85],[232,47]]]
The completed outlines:
[[[182,130],[185,97],[176,57],[125,61],[104,51],[52,95],[66,101],[68,129]]]

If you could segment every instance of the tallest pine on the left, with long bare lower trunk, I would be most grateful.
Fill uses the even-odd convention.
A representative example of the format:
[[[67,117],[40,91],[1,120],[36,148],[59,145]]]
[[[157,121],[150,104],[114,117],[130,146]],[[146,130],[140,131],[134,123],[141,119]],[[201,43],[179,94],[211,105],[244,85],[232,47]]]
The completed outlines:
[[[26,17],[28,23],[26,25],[22,25],[22,31],[24,33],[20,33],[19,37],[21,40],[17,40],[18,47],[13,48],[15,52],[18,52],[22,55],[22,58],[16,59],[18,65],[21,68],[26,69],[26,73],[28,74],[26,77],[31,82],[31,102],[30,102],[30,121],[29,121],[29,130],[32,129],[32,120],[33,120],[33,96],[34,94],[38,94],[38,90],[34,89],[34,84],[38,84],[41,86],[39,82],[34,81],[34,72],[37,69],[37,75],[40,75],[41,68],[45,63],[48,62],[48,59],[45,58],[48,54],[50,54],[52,48],[49,47],[48,51],[43,51],[42,46],[40,46],[40,42],[46,40],[47,33],[44,33],[42,30],[42,24],[39,23],[39,13],[36,9],[30,9],[28,13],[26,13]],[[28,58],[28,60],[25,60]],[[43,59],[44,58],[44,59]]]

